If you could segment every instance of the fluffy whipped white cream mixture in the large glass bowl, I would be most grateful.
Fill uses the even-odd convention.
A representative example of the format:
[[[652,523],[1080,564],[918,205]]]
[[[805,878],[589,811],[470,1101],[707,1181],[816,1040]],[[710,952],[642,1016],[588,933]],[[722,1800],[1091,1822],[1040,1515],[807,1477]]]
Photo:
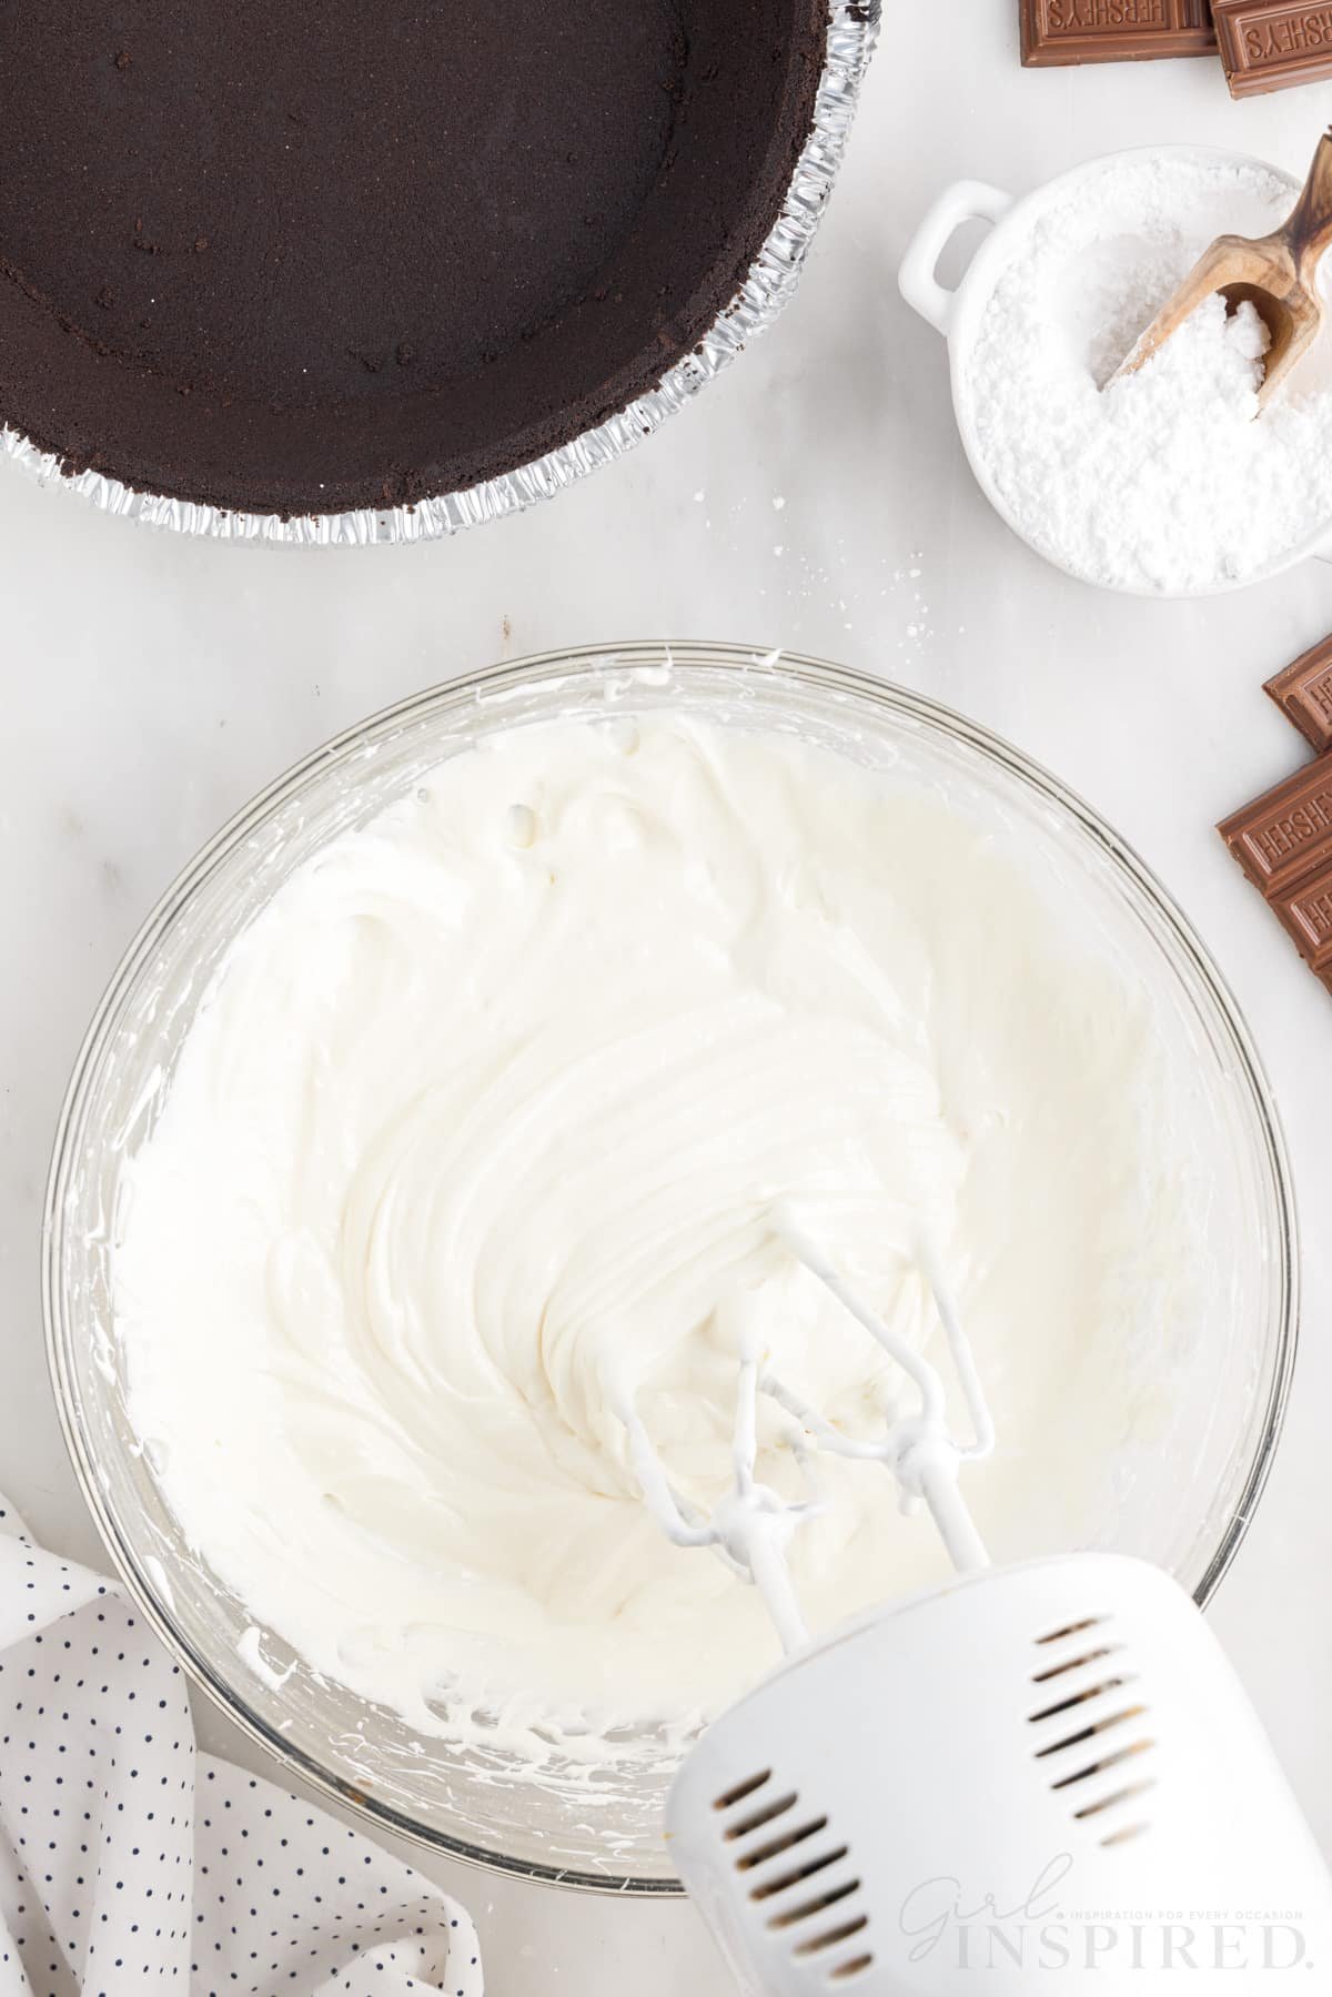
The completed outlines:
[[[673,711],[515,727],[332,839],[224,963],[128,1164],[130,1412],[318,1671],[435,1733],[669,1735],[777,1642],[659,1534],[621,1396],[697,1502],[741,1326],[883,1426],[901,1376],[783,1244],[795,1198],[941,1352],[929,1242],[999,1428],[977,1518],[997,1554],[1076,1540],[1186,1260],[1156,1080],[1142,1002],[943,797]],[[759,1474],[799,1488],[763,1420]],[[883,1470],[821,1478],[815,1628],[941,1572]]]

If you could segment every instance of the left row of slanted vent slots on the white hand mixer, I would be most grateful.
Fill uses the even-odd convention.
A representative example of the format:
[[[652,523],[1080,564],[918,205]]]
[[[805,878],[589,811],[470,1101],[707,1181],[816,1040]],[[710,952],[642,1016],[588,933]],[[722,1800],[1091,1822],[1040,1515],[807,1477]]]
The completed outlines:
[[[841,1987],[873,1963],[861,1881],[835,1871],[849,1847],[827,1841],[829,1819],[801,1809],[799,1791],[769,1783],[771,1767],[715,1799],[713,1809],[725,1811],[721,1837],[793,1965]]]

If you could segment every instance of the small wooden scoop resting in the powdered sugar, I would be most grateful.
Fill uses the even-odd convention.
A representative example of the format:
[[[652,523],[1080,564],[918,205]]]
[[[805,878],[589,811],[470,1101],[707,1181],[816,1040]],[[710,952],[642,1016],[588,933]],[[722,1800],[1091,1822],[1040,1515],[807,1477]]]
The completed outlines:
[[[1134,373],[1204,298],[1220,292],[1230,312],[1248,302],[1268,328],[1270,345],[1258,387],[1262,407],[1318,337],[1322,306],[1314,280],[1328,242],[1332,242],[1332,126],[1318,140],[1300,200],[1282,226],[1258,238],[1218,236],[1138,337],[1132,353],[1114,369],[1112,379]]]

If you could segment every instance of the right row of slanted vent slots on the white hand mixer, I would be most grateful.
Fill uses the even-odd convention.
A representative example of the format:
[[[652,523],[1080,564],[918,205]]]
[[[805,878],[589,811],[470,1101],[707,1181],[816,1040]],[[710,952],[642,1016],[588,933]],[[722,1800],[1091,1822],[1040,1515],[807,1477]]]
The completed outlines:
[[[1122,1779],[1124,1763],[1150,1753],[1156,1741],[1136,1729],[1148,1715],[1146,1703],[1122,1699],[1124,1687],[1136,1683],[1136,1673],[1110,1662],[1124,1656],[1124,1644],[1112,1640],[1108,1622],[1108,1616],[1086,1616],[1034,1640],[1038,1650],[1060,1642],[1072,1642],[1072,1648],[1066,1658],[1058,1652],[1052,1660],[1042,1658],[1040,1669],[1030,1673],[1030,1683],[1044,1691],[1044,1699],[1026,1715],[1026,1723],[1038,1727],[1032,1755],[1044,1765],[1050,1789],[1070,1791],[1072,1821],[1094,1829],[1102,1829],[1106,1813],[1156,1787],[1150,1773],[1140,1781]],[[1074,1677],[1074,1671],[1086,1673],[1084,1679]],[[1100,1781],[1104,1775],[1110,1777],[1108,1787]],[[1086,1783],[1092,1787],[1084,1787]],[[1100,1843],[1126,1845],[1148,1829],[1146,1821],[1120,1825],[1110,1815]]]

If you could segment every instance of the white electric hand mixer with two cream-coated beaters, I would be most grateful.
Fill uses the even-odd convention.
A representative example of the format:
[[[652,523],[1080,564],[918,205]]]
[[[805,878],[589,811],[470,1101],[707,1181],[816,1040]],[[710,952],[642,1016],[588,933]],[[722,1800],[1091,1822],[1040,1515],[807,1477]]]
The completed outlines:
[[[1120,1556],[989,1566],[959,1464],[993,1430],[939,1270],[925,1258],[973,1422],[965,1446],[947,1432],[935,1366],[789,1212],[775,1224],[921,1406],[879,1440],[851,1440],[747,1348],[735,1484],[711,1516],[671,1486],[633,1404],[621,1408],[657,1522],[755,1582],[787,1652],[713,1721],[667,1805],[675,1865],[741,1989],[1330,1989],[1332,1879],[1192,1600]],[[797,1424],[799,1502],[755,1478],[761,1394]],[[819,1506],[821,1450],[885,1464],[907,1508],[925,1502],[959,1574],[811,1642],[785,1546]]]

